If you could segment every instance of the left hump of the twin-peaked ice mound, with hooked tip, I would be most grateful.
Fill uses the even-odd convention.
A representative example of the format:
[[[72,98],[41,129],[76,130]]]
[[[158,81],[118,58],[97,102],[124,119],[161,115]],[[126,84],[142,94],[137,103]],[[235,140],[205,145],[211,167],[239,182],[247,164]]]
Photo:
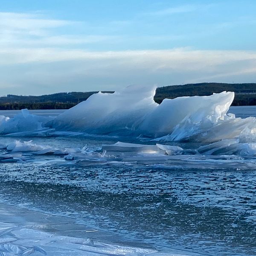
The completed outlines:
[[[52,127],[92,134],[140,135],[141,122],[158,106],[154,90],[127,87],[97,93],[56,117]]]

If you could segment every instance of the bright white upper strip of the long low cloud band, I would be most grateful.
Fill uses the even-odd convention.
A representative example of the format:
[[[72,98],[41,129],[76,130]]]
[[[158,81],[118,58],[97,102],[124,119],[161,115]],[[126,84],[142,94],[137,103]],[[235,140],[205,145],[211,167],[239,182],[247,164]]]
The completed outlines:
[[[37,61],[43,63],[76,60],[115,60],[125,63],[145,62],[145,64],[151,63],[154,66],[159,64],[161,68],[183,67],[194,70],[204,66],[214,67],[219,64],[232,64],[233,61],[256,60],[256,52],[239,50],[193,50],[189,48],[98,52],[82,49],[65,50],[61,48],[0,49],[0,64],[2,65]]]

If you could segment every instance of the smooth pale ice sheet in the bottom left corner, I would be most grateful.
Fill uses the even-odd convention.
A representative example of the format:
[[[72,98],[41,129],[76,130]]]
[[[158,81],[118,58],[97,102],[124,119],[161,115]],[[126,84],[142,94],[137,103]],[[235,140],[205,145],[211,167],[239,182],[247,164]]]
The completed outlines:
[[[10,221],[11,220],[11,221]],[[98,238],[101,238],[99,241]],[[177,251],[177,250],[176,250]],[[77,224],[72,218],[0,204],[1,256],[196,256],[122,241],[114,234]]]

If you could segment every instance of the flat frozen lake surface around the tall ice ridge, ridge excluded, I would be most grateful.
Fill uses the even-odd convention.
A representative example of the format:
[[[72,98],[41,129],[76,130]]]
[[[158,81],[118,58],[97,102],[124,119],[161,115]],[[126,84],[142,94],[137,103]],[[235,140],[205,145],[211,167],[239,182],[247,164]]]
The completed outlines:
[[[256,116],[256,107],[229,112]],[[199,142],[119,140],[0,137],[1,255],[256,255],[255,157],[195,154]]]

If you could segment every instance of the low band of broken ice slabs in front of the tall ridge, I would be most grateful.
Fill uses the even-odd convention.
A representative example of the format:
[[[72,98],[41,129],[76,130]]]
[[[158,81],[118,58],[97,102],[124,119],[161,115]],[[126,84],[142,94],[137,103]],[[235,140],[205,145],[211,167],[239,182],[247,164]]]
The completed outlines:
[[[40,157],[39,157],[40,156]],[[1,146],[0,162],[32,162],[83,165],[136,165],[161,169],[256,169],[256,143],[221,140],[197,149],[176,145],[117,142],[83,148],[52,148],[32,141]]]

